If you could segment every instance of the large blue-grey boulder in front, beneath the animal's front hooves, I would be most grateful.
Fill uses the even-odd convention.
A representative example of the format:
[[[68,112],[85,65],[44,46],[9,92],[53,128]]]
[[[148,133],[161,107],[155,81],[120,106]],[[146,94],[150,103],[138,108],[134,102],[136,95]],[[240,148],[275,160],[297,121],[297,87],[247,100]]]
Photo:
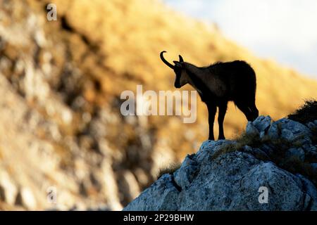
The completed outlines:
[[[251,147],[211,158],[228,144],[232,141],[206,141],[173,175],[163,175],[125,210],[316,210],[311,181],[258,160]]]

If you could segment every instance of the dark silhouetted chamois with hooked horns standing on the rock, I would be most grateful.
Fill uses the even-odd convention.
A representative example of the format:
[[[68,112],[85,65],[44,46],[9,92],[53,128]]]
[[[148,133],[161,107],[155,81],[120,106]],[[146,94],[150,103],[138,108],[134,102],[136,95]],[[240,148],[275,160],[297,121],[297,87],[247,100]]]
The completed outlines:
[[[213,122],[217,107],[219,110],[218,139],[225,139],[223,120],[227,112],[228,101],[233,101],[248,121],[253,121],[259,116],[259,110],[255,104],[256,74],[248,63],[235,60],[199,68],[185,63],[182,56],[179,56],[180,60],[173,61],[175,65],[172,65],[163,57],[163,53],[166,51],[161,52],[161,60],[175,72],[175,88],[179,89],[185,84],[190,84],[199,93],[201,101],[206,103],[209,115],[209,140],[215,139]]]

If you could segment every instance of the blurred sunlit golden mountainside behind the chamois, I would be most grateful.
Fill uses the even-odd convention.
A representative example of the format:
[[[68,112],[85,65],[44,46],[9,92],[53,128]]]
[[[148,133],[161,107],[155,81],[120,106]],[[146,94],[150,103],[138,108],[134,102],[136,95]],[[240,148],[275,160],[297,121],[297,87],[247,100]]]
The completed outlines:
[[[56,4],[57,21],[46,20],[48,3]],[[181,54],[198,66],[247,60],[257,75],[260,115],[273,119],[317,96],[316,81],[256,58],[216,26],[178,15],[159,1],[16,0],[0,6],[4,209],[118,210],[156,179],[159,168],[196,151],[208,137],[199,99],[194,124],[175,116],[120,115],[120,94],[137,84],[174,91],[175,75],[159,58],[163,50],[169,61]],[[230,104],[227,138],[246,123]],[[57,205],[46,199],[50,186],[58,190]]]

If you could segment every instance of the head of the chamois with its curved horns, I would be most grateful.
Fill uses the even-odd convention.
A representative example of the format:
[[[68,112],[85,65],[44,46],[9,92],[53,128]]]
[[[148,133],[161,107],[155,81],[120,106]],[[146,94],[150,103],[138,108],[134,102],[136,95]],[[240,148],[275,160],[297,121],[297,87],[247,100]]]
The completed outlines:
[[[179,61],[173,61],[175,65],[172,65],[171,63],[168,63],[168,61],[164,58],[163,53],[166,53],[166,51],[161,52],[160,54],[161,60],[163,61],[163,63],[165,63],[169,68],[171,68],[175,72],[175,75],[176,75],[175,84],[174,84],[175,88],[179,89],[185,84],[188,84],[189,83],[188,75],[185,70],[185,62],[182,59],[182,56],[179,56],[180,57]]]

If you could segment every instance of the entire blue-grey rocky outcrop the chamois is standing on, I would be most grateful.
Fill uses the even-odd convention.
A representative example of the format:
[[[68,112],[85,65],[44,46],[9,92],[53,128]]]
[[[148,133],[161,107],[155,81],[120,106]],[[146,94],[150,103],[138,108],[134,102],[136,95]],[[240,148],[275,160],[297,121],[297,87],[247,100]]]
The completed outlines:
[[[317,120],[309,127],[259,117],[249,122],[244,139],[205,141],[180,169],[161,176],[124,210],[317,210],[317,146],[311,141]],[[302,169],[287,167],[292,159]]]

